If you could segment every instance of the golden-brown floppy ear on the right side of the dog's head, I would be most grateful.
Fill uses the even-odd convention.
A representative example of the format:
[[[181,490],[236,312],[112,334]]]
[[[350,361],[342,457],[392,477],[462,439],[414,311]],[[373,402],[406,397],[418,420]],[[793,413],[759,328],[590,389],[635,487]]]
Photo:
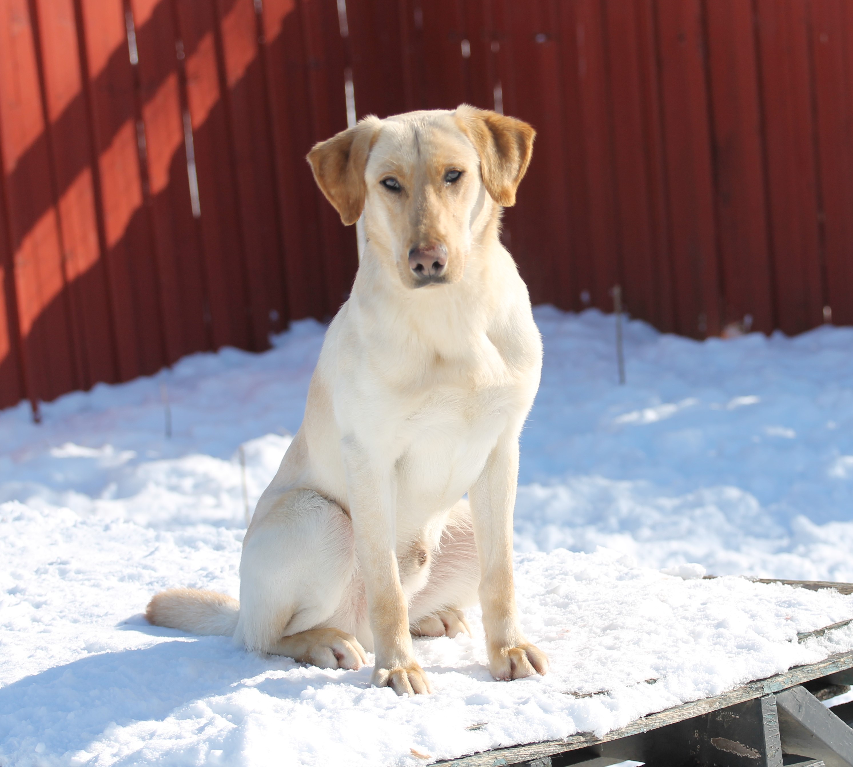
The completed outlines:
[[[499,205],[515,205],[515,190],[533,154],[532,125],[467,104],[456,108],[456,121],[479,153],[486,191]]]

